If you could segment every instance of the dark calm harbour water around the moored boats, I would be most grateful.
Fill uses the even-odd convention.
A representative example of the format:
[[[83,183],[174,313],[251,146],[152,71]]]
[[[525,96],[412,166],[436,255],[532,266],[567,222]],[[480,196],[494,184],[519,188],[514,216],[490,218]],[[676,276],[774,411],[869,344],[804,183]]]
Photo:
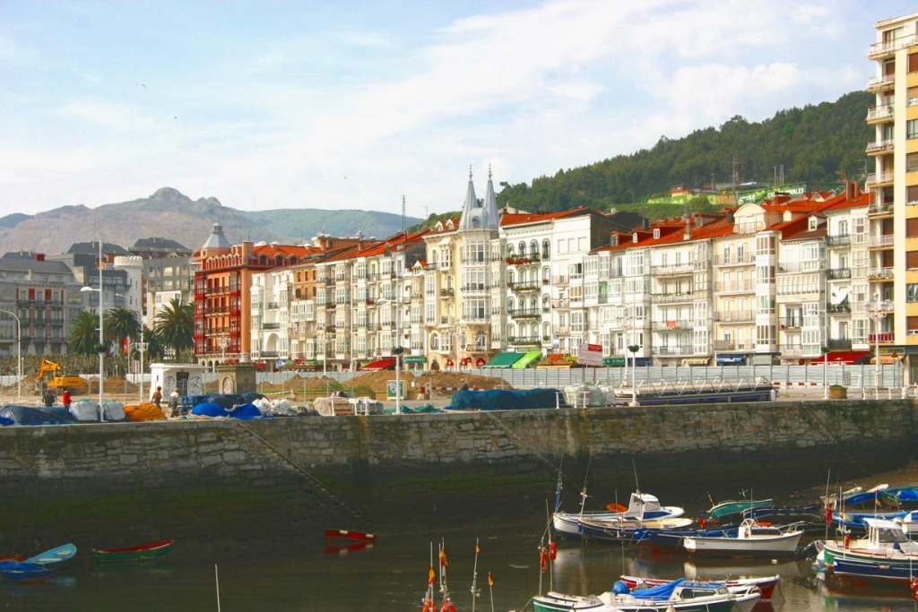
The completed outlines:
[[[93,566],[88,555],[47,584],[0,583],[0,610],[222,610],[293,611],[420,610],[427,582],[431,540],[440,534],[380,536],[374,548],[333,550],[324,543],[304,545],[296,554],[190,562],[181,542],[174,558],[144,565]],[[460,612],[473,608],[470,587],[475,541],[480,538],[475,609],[522,609],[541,588],[587,594],[608,590],[621,573],[678,577],[770,575],[780,573],[780,597],[756,610],[808,612],[845,609],[918,610],[907,593],[887,590],[852,595],[827,592],[808,577],[808,562],[730,562],[696,564],[687,555],[642,557],[610,545],[562,542],[552,573],[538,570],[540,534],[451,533],[445,544],[448,584]],[[436,544],[434,543],[434,553]],[[495,584],[489,590],[487,573]],[[217,588],[219,583],[219,590]],[[902,589],[904,591],[904,589]],[[219,606],[218,606],[219,592]],[[493,598],[492,598],[493,597]]]

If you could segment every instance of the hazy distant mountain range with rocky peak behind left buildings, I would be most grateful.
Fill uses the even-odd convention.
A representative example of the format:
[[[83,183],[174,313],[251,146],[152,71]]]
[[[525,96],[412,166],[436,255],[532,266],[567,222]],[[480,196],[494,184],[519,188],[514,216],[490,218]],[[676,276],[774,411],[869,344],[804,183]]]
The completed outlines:
[[[420,219],[409,217],[406,224]],[[402,218],[364,210],[278,209],[247,212],[220,204],[216,197],[192,200],[172,187],[149,197],[95,208],[62,206],[34,216],[0,219],[0,254],[11,250],[66,251],[73,242],[101,239],[129,248],[138,239],[173,239],[189,249],[200,247],[214,223],[233,244],[242,239],[293,244],[320,233],[383,239],[401,231]]]

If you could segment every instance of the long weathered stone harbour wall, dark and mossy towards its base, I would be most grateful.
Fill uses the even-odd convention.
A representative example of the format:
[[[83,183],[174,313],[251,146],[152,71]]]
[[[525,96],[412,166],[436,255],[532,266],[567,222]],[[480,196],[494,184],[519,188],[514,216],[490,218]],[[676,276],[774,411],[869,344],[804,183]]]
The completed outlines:
[[[0,550],[542,521],[559,468],[567,507],[589,473],[599,500],[623,500],[639,479],[666,504],[700,508],[709,492],[777,497],[830,470],[895,469],[914,435],[909,401],[0,428]]]

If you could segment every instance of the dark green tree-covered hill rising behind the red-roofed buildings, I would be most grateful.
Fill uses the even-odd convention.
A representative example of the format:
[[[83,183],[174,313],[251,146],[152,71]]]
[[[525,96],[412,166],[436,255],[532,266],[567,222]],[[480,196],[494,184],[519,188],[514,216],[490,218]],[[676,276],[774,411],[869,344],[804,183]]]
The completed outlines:
[[[618,155],[582,168],[541,176],[532,185],[506,185],[498,206],[546,212],[640,202],[689,188],[731,182],[733,161],[739,181],[771,184],[784,166],[784,183],[837,181],[839,172],[863,180],[865,149],[873,128],[866,117],[874,96],[843,95],[835,102],[779,111],[761,123],[733,117],[720,128],[699,129],[682,139],[662,137],[650,150]]]

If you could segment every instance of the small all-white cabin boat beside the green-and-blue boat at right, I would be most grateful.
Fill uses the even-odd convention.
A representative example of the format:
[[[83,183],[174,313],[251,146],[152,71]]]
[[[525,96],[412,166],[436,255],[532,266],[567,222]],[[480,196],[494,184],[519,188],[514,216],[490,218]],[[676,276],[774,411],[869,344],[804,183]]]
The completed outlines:
[[[795,525],[778,528],[745,518],[735,536],[686,536],[682,545],[692,554],[791,554],[802,535]]]

